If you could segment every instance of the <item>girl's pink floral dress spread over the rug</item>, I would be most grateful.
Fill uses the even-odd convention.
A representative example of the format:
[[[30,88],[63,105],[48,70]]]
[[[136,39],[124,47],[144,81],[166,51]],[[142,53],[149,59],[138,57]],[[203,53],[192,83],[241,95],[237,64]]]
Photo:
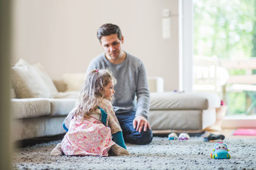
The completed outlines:
[[[109,104],[111,104],[109,101],[102,103],[102,108],[106,113],[109,109],[113,110],[113,106],[109,107]],[[99,114],[101,114],[100,110]],[[72,118],[68,132],[61,142],[61,149],[65,155],[108,156],[109,149],[115,145],[111,139],[113,129],[102,124],[98,119],[95,117],[84,118],[84,120],[81,117]],[[108,119],[109,123],[111,121]],[[119,124],[118,127],[120,127]]]

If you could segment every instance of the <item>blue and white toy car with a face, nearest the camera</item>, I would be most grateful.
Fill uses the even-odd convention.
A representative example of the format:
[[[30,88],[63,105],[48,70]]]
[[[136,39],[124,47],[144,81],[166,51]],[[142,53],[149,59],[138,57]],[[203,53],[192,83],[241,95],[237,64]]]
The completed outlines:
[[[223,142],[218,142],[214,145],[211,152],[212,159],[230,159],[230,154],[228,153],[228,146]]]

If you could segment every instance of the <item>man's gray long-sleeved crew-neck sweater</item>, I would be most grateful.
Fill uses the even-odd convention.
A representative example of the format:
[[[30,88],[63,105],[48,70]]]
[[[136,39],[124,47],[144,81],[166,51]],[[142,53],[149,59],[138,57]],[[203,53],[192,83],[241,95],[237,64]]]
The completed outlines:
[[[110,69],[117,80],[113,101],[116,114],[134,110],[136,116],[147,118],[150,94],[145,67],[140,59],[125,53],[126,58],[120,64],[113,64],[106,59],[105,53],[100,54],[90,62],[86,74],[92,69]]]

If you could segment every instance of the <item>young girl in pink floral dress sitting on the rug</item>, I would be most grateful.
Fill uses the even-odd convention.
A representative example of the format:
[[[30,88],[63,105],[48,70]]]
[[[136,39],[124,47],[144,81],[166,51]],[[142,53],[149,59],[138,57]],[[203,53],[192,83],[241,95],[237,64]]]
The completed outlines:
[[[75,108],[63,122],[68,132],[51,155],[108,156],[110,148],[115,155],[129,155],[111,104],[115,83],[106,69],[88,74]]]

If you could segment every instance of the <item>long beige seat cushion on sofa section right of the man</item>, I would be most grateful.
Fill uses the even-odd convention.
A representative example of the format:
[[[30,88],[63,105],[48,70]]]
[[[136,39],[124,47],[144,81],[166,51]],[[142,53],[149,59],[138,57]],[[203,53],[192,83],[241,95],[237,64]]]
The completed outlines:
[[[206,92],[150,94],[150,110],[207,110],[218,107],[220,97]]]

